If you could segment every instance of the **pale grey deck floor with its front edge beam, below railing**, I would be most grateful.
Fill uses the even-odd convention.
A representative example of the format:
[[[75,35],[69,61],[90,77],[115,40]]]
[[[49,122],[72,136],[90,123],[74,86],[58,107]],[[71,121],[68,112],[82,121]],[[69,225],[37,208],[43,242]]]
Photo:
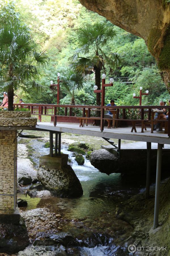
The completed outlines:
[[[75,123],[57,123],[54,126],[53,123],[37,123],[36,129],[45,130],[45,131],[56,131],[56,132],[67,132],[88,136],[96,136],[96,137],[105,137],[111,139],[123,139],[130,141],[145,141],[145,142],[153,142],[160,144],[170,144],[170,139],[167,134],[158,133],[154,131],[154,133],[150,133],[151,129],[147,127],[147,131],[141,133],[141,127],[137,127],[137,133],[131,133],[131,127],[118,127],[107,129],[104,128],[104,131],[100,131],[100,127],[88,125],[84,127],[79,127],[78,124]]]

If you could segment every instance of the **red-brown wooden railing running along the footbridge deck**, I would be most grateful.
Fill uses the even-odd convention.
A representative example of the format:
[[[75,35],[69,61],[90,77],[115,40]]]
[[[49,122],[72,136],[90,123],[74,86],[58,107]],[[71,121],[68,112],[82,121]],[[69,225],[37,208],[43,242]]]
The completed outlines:
[[[20,108],[28,108],[31,111],[32,115],[38,115],[39,122],[41,122],[42,115],[46,116],[54,116],[54,126],[57,124],[57,117],[58,116],[73,116],[74,110],[78,109],[81,113],[81,115],[76,117],[85,117],[88,115],[88,117],[91,116],[92,111],[100,111],[100,121],[101,121],[101,131],[104,129],[104,121],[106,118],[104,118],[105,110],[117,110],[116,112],[116,118],[113,120],[132,120],[128,119],[126,116],[126,111],[131,110],[139,110],[138,111],[138,119],[139,121],[153,121],[153,118],[151,119],[151,113],[153,113],[152,110],[159,109],[160,106],[88,106],[88,105],[53,105],[53,104],[14,104],[14,108],[16,107]],[[165,106],[167,110],[170,110],[170,106]],[[64,109],[63,113],[64,115],[59,115],[59,111],[61,109]],[[120,111],[122,118],[120,118]],[[147,117],[144,118],[144,116],[147,115]],[[140,118],[139,118],[140,116]],[[164,122],[164,120],[159,120],[159,122]],[[170,118],[165,121],[168,123],[168,137],[170,137]]]

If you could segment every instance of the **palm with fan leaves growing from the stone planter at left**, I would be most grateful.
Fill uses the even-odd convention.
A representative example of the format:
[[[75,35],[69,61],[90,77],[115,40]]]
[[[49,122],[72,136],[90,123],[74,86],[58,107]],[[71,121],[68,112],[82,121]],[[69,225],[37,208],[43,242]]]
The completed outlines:
[[[35,81],[37,67],[48,62],[44,51],[37,52],[37,45],[19,20],[0,29],[0,88],[8,92],[8,110],[14,110],[14,90],[25,89],[30,79],[33,89],[42,89]]]

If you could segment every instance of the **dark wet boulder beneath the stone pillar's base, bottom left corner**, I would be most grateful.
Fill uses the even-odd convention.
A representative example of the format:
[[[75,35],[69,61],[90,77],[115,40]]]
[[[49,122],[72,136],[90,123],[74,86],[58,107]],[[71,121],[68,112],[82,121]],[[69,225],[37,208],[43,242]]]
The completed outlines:
[[[23,218],[20,216],[20,223],[0,224],[0,255],[1,253],[18,253],[29,244],[27,228]]]

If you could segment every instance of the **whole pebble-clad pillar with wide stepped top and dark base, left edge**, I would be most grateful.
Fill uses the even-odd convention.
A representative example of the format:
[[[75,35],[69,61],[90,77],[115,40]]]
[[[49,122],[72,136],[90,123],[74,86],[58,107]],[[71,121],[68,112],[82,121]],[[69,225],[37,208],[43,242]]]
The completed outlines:
[[[17,130],[32,129],[37,118],[26,111],[0,111],[0,223],[17,222]]]

